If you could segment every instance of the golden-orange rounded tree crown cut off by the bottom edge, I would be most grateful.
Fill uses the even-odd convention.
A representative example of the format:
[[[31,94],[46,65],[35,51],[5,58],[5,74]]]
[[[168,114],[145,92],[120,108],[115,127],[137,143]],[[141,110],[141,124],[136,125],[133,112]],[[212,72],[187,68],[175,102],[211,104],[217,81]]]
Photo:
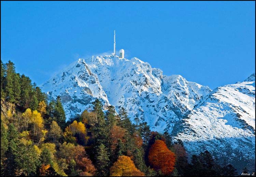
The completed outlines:
[[[145,176],[128,156],[119,156],[110,168],[110,176]]]

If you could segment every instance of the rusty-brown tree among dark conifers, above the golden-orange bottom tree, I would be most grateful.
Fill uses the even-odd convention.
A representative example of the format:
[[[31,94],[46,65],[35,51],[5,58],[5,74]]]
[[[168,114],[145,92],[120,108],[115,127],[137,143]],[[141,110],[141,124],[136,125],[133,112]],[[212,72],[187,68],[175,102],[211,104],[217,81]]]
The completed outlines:
[[[122,127],[114,125],[111,130],[110,130],[110,139],[111,139],[111,149],[112,151],[116,148],[118,139],[120,139],[122,142],[125,141],[124,136],[125,136],[126,130]]]

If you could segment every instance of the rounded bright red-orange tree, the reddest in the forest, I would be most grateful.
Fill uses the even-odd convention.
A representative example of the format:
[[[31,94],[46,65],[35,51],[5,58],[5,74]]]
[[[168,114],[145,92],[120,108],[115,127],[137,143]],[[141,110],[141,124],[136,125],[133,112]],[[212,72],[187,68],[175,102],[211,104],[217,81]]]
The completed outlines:
[[[175,158],[175,154],[162,140],[156,140],[149,149],[150,164],[155,170],[161,170],[164,175],[169,175],[174,170]]]

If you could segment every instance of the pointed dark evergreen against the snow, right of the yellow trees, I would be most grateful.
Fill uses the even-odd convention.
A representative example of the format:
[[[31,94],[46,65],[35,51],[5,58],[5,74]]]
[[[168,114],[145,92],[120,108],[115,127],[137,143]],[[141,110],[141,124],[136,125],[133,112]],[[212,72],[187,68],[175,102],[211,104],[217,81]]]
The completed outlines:
[[[60,96],[57,96],[56,103],[54,105],[54,117],[56,118],[58,125],[64,129],[66,126],[66,115],[61,104]]]

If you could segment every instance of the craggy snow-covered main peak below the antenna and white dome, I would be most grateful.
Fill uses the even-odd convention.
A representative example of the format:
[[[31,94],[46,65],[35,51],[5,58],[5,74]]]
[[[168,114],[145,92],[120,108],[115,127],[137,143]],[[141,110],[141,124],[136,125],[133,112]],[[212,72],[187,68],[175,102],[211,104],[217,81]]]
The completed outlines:
[[[139,117],[153,130],[171,129],[210,88],[188,82],[180,75],[165,76],[138,58],[93,56],[79,59],[41,86],[50,99],[61,96],[67,119],[90,109],[100,98],[116,111],[124,106],[133,120]]]

